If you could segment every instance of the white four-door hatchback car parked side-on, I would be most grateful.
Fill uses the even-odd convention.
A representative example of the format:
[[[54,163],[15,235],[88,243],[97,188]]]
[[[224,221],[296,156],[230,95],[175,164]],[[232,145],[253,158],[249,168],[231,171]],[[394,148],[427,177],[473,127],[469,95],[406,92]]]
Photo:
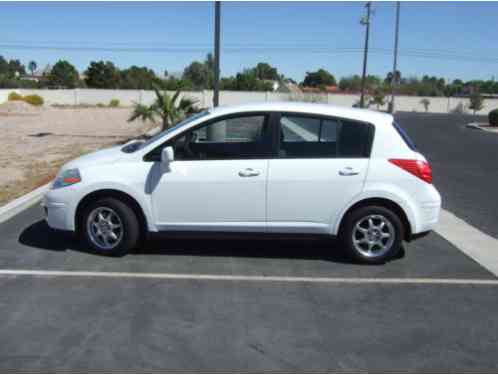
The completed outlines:
[[[126,253],[147,232],[338,236],[367,263],[434,228],[426,159],[388,114],[305,103],[220,107],[62,167],[47,221]]]

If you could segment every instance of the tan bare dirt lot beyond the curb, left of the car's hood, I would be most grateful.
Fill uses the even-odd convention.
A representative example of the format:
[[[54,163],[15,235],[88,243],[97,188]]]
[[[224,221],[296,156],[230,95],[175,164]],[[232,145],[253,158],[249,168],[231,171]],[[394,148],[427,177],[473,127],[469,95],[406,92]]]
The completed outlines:
[[[16,110],[30,106],[19,103]],[[44,185],[69,160],[140,137],[154,127],[127,122],[129,108],[46,107],[34,114],[0,117],[0,206]]]

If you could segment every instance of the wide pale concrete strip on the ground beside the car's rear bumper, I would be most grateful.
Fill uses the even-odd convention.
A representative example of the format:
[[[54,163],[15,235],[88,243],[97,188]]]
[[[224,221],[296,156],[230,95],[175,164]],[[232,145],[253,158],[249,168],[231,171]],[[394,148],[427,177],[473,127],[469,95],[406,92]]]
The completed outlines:
[[[436,232],[493,275],[498,276],[497,239],[488,236],[446,210],[441,210]]]

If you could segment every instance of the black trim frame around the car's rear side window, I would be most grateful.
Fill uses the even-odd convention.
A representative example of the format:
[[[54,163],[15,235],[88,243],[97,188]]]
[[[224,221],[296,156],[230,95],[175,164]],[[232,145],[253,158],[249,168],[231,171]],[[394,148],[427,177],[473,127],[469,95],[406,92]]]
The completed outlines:
[[[324,157],[319,157],[319,156],[317,156],[317,157],[283,157],[283,156],[280,156],[280,144],[281,144],[281,141],[280,141],[280,132],[281,132],[280,119],[282,116],[308,117],[308,118],[320,119],[321,121],[328,120],[328,121],[338,122],[339,127],[337,129],[337,150],[336,150],[335,157],[329,157],[329,156],[324,156]],[[374,134],[375,134],[375,126],[369,122],[354,120],[354,119],[345,118],[345,117],[329,116],[329,115],[309,113],[309,112],[281,111],[281,112],[278,112],[278,116],[276,116],[276,117],[277,118],[274,119],[274,126],[276,128],[275,129],[276,150],[275,150],[274,156],[276,159],[288,159],[288,160],[293,160],[293,159],[369,159],[371,154],[372,154],[372,145],[373,145],[373,139],[374,139]],[[365,149],[363,150],[363,156],[342,156],[341,155],[341,131],[342,131],[342,127],[343,127],[343,121],[355,122],[355,123],[367,126],[367,142],[365,144]],[[321,125],[320,125],[320,127],[321,127]],[[318,139],[320,139],[320,135],[321,135],[321,129],[320,129],[320,134],[319,134]]]

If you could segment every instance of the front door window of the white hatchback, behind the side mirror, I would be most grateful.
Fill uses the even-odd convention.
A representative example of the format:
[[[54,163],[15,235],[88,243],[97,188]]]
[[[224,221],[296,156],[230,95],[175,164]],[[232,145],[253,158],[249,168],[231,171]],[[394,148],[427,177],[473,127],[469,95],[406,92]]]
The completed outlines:
[[[173,142],[177,160],[228,160],[267,157],[270,151],[264,114],[214,120]]]

